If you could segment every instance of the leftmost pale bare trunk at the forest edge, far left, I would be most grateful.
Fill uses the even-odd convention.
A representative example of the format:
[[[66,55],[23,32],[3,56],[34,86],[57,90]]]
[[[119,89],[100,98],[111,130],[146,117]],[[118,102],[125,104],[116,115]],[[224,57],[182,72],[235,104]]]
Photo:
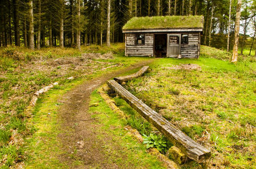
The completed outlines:
[[[35,49],[34,42],[34,18],[33,18],[33,1],[29,0],[29,48],[31,50]]]

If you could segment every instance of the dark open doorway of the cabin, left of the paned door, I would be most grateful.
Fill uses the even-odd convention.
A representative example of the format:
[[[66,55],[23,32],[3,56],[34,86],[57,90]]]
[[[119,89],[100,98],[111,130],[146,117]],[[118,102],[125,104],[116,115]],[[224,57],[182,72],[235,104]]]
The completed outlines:
[[[166,57],[167,34],[155,34],[155,56]]]

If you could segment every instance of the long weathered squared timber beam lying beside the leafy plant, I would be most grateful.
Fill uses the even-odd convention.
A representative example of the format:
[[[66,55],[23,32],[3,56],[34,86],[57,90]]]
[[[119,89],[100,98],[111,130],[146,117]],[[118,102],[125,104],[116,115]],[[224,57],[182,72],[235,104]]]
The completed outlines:
[[[109,87],[127,101],[131,107],[138,111],[148,122],[152,123],[174,145],[178,146],[187,157],[201,163],[211,156],[210,150],[204,148],[189,136],[185,135],[182,131],[178,130],[172,123],[144,104],[116,81],[111,80],[107,83]]]

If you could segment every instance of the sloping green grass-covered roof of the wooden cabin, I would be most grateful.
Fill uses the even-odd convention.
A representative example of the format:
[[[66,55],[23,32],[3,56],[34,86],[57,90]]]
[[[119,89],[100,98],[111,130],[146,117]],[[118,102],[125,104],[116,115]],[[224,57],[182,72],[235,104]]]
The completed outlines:
[[[203,16],[133,17],[123,26],[123,30],[168,28],[203,28]]]

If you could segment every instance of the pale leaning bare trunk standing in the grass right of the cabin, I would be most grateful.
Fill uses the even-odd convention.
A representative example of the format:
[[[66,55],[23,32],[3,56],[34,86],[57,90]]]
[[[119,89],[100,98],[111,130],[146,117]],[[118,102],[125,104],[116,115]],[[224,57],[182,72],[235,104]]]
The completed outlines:
[[[238,57],[238,43],[239,43],[239,28],[240,28],[240,15],[241,15],[242,0],[237,1],[236,8],[236,24],[234,28],[234,47],[231,62],[236,63]]]

